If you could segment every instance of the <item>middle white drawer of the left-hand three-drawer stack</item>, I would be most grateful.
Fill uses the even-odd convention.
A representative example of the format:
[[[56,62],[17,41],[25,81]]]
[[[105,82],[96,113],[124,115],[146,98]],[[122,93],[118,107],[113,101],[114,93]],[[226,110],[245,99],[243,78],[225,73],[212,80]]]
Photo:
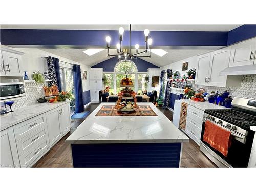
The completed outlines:
[[[40,127],[38,130],[17,141],[19,156],[27,153],[31,148],[36,147],[40,142],[48,140],[47,126]]]

